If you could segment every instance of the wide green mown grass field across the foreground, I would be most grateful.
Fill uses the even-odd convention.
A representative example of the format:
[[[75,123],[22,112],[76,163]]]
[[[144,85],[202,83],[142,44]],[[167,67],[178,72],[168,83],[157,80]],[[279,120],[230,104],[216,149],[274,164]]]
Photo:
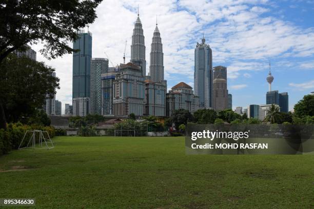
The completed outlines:
[[[0,198],[36,198],[35,208],[314,207],[311,155],[185,155],[183,137],[54,142],[0,156]]]

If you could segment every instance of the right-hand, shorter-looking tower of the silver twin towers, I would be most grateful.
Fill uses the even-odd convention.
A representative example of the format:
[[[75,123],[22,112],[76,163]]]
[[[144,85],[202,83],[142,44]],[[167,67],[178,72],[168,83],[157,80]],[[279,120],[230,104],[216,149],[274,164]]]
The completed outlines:
[[[151,43],[149,75],[153,82],[161,82],[164,80],[163,44],[157,22]]]

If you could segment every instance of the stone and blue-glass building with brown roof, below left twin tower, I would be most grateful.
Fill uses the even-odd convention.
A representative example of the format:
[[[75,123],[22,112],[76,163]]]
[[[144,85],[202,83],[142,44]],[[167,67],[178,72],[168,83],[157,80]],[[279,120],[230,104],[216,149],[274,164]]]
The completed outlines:
[[[113,114],[143,116],[145,82],[141,67],[129,62],[123,65],[113,81]]]

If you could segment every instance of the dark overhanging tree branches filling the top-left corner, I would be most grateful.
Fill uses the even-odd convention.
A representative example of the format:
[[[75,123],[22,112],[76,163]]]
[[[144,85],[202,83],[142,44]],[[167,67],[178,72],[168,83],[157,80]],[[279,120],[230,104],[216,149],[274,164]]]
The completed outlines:
[[[44,43],[48,59],[71,53],[68,46],[77,30],[94,22],[102,0],[10,0],[0,4],[0,65],[14,50],[26,44]],[[3,75],[3,68],[0,74]],[[18,73],[22,74],[22,73]],[[0,100],[0,129],[6,128],[4,101]]]

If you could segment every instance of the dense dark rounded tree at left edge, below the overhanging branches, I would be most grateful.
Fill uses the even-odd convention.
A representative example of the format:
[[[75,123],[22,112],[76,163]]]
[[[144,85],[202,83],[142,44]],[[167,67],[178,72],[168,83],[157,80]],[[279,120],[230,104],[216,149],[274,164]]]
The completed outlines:
[[[59,79],[52,75],[55,70],[27,57],[11,54],[2,62],[0,71],[0,111],[4,113],[0,128],[6,128],[7,120],[16,122],[21,116],[36,114],[47,94],[59,89]]]

